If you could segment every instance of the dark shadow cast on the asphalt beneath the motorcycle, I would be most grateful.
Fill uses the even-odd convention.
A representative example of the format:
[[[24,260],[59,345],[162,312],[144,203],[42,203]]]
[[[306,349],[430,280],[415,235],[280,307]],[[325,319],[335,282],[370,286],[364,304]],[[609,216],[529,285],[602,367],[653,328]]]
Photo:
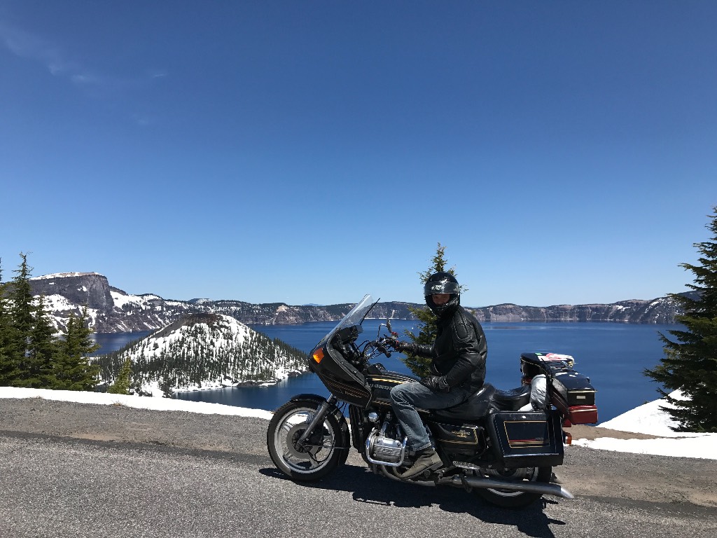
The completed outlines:
[[[291,480],[274,467],[262,468],[259,472],[270,478]],[[463,489],[401,483],[377,476],[365,467],[348,464],[321,481],[295,481],[294,483],[310,489],[346,491],[353,494],[354,501],[367,504],[397,508],[421,508],[435,505],[443,511],[470,514],[485,523],[510,525],[516,527],[526,536],[535,538],[554,538],[550,525],[566,524],[545,514],[544,509],[547,506],[558,504],[558,501],[552,499],[543,498],[521,509],[506,509],[493,506]]]

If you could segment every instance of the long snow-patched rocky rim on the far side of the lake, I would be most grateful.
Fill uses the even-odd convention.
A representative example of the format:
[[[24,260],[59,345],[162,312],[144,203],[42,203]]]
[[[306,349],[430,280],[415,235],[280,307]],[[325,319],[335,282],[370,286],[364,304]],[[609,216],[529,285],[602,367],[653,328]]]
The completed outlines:
[[[30,280],[33,293],[45,297],[47,310],[58,327],[65,326],[70,311],[82,306],[98,333],[134,332],[161,329],[193,313],[230,316],[243,324],[301,324],[307,321],[338,321],[352,303],[328,306],[290,306],[285,303],[246,303],[244,301],[171,301],[153,294],[130,295],[110,286],[98,273],[57,273]],[[357,298],[358,299],[358,298]],[[414,319],[409,307],[422,305],[404,302],[379,303],[371,318]],[[479,321],[614,321],[632,324],[671,324],[681,313],[668,297],[651,301],[619,301],[612,304],[518,306],[500,304],[469,308]]]

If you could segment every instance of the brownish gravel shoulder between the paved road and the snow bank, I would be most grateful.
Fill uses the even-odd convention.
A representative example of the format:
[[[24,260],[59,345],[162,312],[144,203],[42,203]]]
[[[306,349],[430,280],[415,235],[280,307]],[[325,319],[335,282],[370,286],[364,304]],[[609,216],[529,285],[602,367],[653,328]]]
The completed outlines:
[[[32,398],[0,399],[0,435],[47,435],[101,443],[166,445],[187,450],[243,453],[272,463],[266,450],[267,421],[227,415],[154,411],[122,405],[92,405]],[[579,438],[654,438],[574,426]],[[352,451],[347,463],[364,466]],[[555,469],[577,496],[604,500],[706,506],[717,509],[717,460],[674,458],[568,446]]]

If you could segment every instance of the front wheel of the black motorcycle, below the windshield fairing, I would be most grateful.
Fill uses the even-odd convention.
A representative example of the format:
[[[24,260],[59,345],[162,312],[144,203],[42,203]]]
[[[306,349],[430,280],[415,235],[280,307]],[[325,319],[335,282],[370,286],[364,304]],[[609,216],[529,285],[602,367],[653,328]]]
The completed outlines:
[[[320,480],[346,461],[348,455],[341,425],[331,412],[303,445],[298,443],[316,408],[312,400],[288,402],[274,413],[269,423],[269,455],[274,465],[294,480]]]

